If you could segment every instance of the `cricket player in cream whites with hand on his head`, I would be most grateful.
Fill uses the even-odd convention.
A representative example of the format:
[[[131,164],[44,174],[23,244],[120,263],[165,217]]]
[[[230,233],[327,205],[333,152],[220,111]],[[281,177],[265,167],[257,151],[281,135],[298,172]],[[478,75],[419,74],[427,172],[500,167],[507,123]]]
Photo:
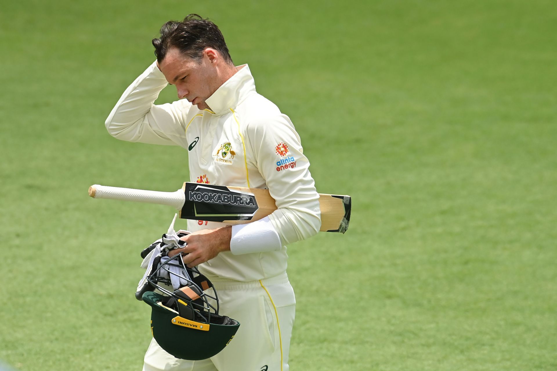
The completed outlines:
[[[289,117],[257,93],[250,68],[234,66],[211,21],[197,14],[169,21],[153,45],[157,61],[110,112],[110,135],[181,146],[190,181],[265,188],[278,209],[243,225],[188,220],[187,245],[170,256],[187,253],[184,263],[212,281],[221,313],[241,326],[222,352],[206,360],[174,358],[153,339],[143,370],[287,371],[296,301],[286,245],[317,234],[321,225],[300,137]],[[178,100],[154,105],[168,84]]]

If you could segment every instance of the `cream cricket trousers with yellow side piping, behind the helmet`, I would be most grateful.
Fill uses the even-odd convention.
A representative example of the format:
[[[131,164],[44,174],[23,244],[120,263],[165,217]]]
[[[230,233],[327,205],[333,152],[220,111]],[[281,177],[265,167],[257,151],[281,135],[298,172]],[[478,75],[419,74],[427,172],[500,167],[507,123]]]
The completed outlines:
[[[152,339],[143,371],[288,371],[296,299],[286,272],[250,282],[209,279],[219,314],[240,322],[232,341],[214,357],[193,361],[173,357]]]

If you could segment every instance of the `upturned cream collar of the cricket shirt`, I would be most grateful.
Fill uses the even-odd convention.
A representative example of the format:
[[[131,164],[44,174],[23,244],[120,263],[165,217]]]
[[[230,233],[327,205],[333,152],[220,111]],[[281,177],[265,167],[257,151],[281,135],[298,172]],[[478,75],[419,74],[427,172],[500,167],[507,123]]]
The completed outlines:
[[[251,76],[250,67],[236,67],[238,72],[224,82],[221,87],[208,97],[206,103],[216,115],[224,115],[241,103],[251,92],[255,92],[255,81]]]

